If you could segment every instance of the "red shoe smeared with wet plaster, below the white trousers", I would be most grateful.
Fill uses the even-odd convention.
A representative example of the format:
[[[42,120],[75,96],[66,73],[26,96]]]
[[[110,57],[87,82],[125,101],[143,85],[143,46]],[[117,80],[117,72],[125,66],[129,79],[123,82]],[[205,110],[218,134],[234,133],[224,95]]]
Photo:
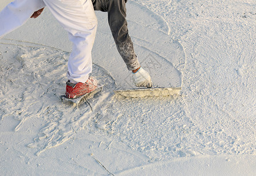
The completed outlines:
[[[85,83],[76,83],[74,87],[66,85],[66,97],[75,99],[97,88],[97,80],[90,76]]]

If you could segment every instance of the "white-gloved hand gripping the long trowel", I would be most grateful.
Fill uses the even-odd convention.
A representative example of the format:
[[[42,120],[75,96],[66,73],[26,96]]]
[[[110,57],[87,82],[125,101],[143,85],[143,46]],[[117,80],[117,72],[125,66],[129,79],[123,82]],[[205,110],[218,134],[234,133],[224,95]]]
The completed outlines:
[[[136,73],[133,73],[133,82],[137,87],[152,87],[151,77],[142,67]]]

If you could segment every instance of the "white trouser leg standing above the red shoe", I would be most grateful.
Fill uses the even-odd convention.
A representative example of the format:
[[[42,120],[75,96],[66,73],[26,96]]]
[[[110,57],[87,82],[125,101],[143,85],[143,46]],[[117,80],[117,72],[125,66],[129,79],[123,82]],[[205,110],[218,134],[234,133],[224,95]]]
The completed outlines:
[[[97,30],[97,18],[91,0],[43,0],[69,32],[73,42],[68,62],[70,82],[85,83],[92,72],[92,47]]]

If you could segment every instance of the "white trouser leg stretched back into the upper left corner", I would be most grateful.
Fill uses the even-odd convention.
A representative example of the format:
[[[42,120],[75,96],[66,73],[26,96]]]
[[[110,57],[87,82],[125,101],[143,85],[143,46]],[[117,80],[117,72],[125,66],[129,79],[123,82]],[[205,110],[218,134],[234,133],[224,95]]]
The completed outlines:
[[[0,12],[0,38],[22,26],[33,14],[45,6],[43,0],[16,0]]]

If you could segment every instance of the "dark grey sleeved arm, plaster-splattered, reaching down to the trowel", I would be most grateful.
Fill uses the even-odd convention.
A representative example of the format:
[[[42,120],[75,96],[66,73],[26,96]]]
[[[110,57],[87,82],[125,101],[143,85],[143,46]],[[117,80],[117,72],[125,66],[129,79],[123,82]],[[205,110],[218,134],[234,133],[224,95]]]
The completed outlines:
[[[96,11],[107,12],[109,26],[112,32],[117,50],[126,63],[128,70],[135,70],[140,63],[134,52],[133,42],[129,36],[126,21],[127,0],[92,0]]]

